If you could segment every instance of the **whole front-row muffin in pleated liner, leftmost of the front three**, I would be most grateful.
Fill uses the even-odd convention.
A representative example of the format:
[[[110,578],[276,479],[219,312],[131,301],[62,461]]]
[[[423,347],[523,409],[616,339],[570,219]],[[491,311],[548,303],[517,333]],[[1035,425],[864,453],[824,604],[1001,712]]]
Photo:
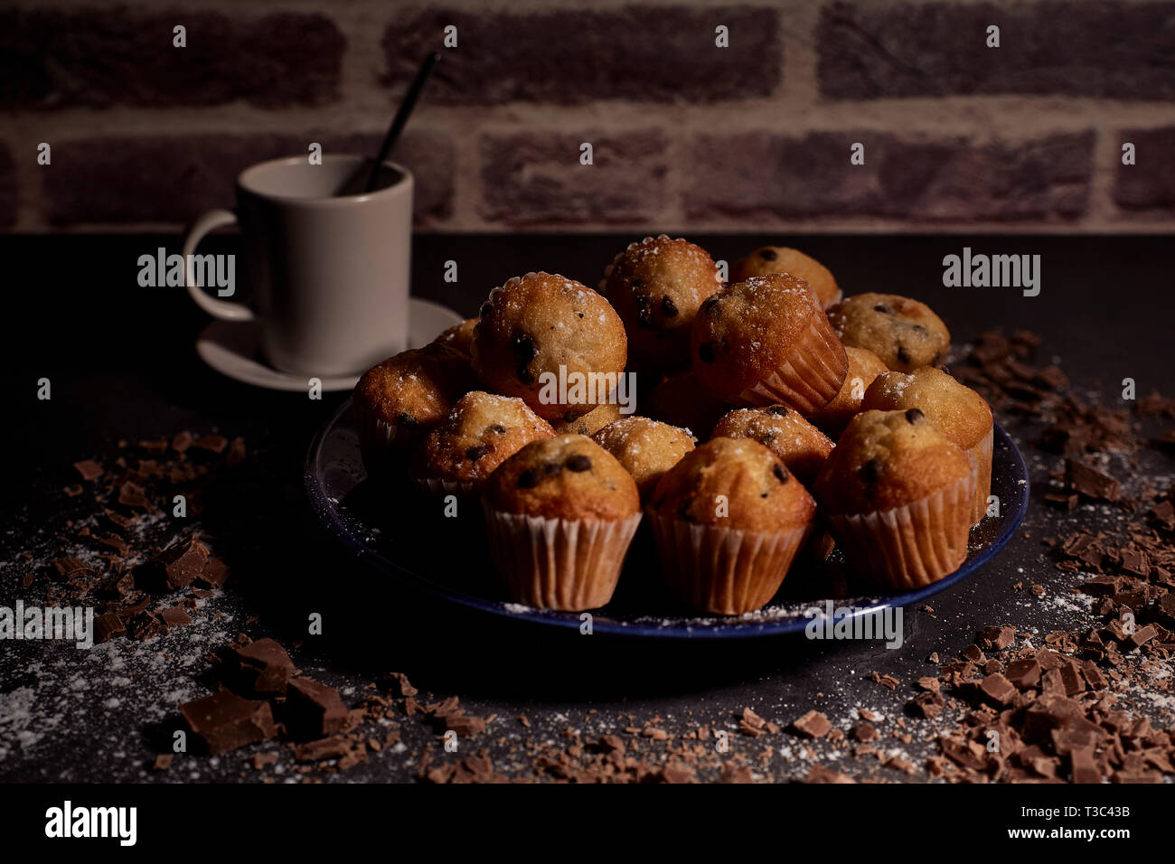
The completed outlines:
[[[583,435],[532,441],[490,476],[482,501],[512,601],[577,612],[612,598],[640,496],[607,450]]]

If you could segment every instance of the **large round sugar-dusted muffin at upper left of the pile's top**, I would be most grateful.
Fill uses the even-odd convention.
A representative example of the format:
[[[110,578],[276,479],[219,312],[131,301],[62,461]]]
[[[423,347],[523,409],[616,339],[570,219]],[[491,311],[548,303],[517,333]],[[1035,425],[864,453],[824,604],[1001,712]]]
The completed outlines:
[[[544,420],[568,421],[610,401],[626,346],[620,316],[599,294],[573,279],[528,273],[482,304],[474,369],[488,389],[518,396]]]

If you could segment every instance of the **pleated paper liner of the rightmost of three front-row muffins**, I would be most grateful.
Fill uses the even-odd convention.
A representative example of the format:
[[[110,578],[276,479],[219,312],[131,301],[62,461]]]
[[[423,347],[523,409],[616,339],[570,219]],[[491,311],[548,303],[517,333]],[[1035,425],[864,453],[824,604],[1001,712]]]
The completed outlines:
[[[962,480],[905,507],[826,518],[853,572],[897,590],[924,588],[967,558],[975,480],[973,466]]]

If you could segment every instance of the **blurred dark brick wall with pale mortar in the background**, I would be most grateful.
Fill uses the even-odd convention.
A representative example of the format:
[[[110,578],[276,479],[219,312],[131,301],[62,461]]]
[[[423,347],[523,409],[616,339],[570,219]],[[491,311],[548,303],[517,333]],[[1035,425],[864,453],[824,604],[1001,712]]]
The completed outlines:
[[[423,230],[1175,225],[1173,0],[16,0],[0,226],[172,230],[251,162],[372,152],[430,49]]]

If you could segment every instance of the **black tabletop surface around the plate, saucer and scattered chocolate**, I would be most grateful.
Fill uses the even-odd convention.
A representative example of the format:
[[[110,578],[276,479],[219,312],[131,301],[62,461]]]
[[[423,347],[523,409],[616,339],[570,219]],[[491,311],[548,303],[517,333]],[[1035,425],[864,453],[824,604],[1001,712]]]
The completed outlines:
[[[636,235],[421,236],[414,247],[414,293],[474,315],[485,294],[532,269],[559,272],[595,284],[613,254]],[[694,236],[716,259],[734,260],[776,236]],[[235,248],[216,237],[213,252]],[[980,331],[1030,329],[1041,334],[1040,362],[1058,359],[1082,398],[1121,407],[1121,381],[1133,377],[1140,395],[1171,389],[1170,326],[1175,320],[1167,237],[1076,236],[811,236],[793,242],[825,262],[846,293],[909,295],[947,322],[958,348]],[[0,777],[73,781],[258,779],[247,766],[268,744],[221,757],[188,756],[169,771],[149,770],[179,726],[180,702],[206,695],[214,683],[204,655],[239,632],[273,636],[295,663],[330,683],[354,703],[383,672],[405,672],[421,701],[459,696],[471,714],[496,716],[476,743],[512,776],[526,765],[511,752],[524,738],[555,739],[568,728],[605,734],[659,716],[680,735],[697,725],[736,729],[744,708],[786,726],[810,709],[847,728],[868,708],[891,721],[911,698],[909,682],[933,675],[928,655],[955,656],[975,630],[1014,623],[1041,632],[1092,621],[1069,600],[1073,576],[1046,556],[1041,537],[1065,525],[1112,522],[1106,508],[1083,504],[1063,514],[1041,503],[1048,473],[1061,458],[1028,444],[1039,426],[998,416],[1029,463],[1033,501],[1023,530],[971,581],[907,609],[906,643],[814,643],[767,638],[730,643],[659,643],[584,638],[546,631],[450,605],[381,581],[350,561],[321,531],[302,491],[306,448],[345,398],[328,394],[271,393],[236,383],[197,359],[194,341],[207,317],[183,289],[140,288],[137,257],[166,236],[6,236],[4,453],[0,484],[0,603],[36,600],[21,589],[29,568],[68,548],[87,505],[62,488],[76,482],[70,464],[109,462],[116,441],[170,436],[181,429],[242,435],[255,464],[235,482],[236,505],[206,520],[214,551],[233,567],[223,591],[204,602],[196,622],[149,643],[115,639],[89,651],[60,643],[7,643],[0,650]],[[942,257],[964,246],[975,252],[1039,254],[1042,290],[1025,297],[1014,288],[944,288]],[[459,281],[443,281],[444,261],[456,260]],[[52,400],[36,398],[36,381],[52,381]],[[1142,455],[1143,471],[1159,483],[1171,474],[1168,456]],[[1167,481],[1169,482],[1169,480]],[[93,507],[90,504],[89,510]],[[87,510],[87,511],[89,511]],[[175,527],[175,534],[192,525]],[[20,557],[28,551],[31,558]],[[438,544],[437,555],[444,549]],[[1035,597],[1025,588],[1040,583]],[[222,612],[213,619],[213,612]],[[307,616],[323,616],[323,635],[307,636]],[[291,648],[297,643],[298,648]],[[891,691],[872,672],[901,683]],[[516,717],[526,715],[531,728]],[[1169,721],[1168,721],[1169,722]],[[436,731],[405,718],[404,748],[371,754],[342,781],[407,781],[419,750],[439,742]],[[887,722],[879,724],[888,734]],[[931,736],[895,743],[920,763],[933,752]],[[786,731],[766,739],[734,736],[732,746],[774,754],[764,776],[791,779],[811,762]],[[813,748],[819,757],[821,745]],[[288,755],[264,776],[288,779]],[[842,758],[854,776],[904,779],[875,758]],[[757,769],[760,770],[760,769]]]

